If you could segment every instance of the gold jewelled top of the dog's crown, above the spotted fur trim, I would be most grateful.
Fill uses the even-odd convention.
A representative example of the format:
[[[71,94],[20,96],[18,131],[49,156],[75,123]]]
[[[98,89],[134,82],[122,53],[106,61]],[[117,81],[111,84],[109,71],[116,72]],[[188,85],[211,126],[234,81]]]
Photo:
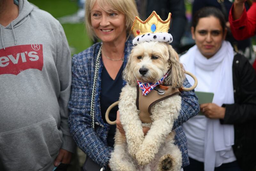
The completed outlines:
[[[132,33],[134,37],[146,33],[168,32],[171,15],[172,14],[169,12],[168,18],[165,21],[163,21],[155,11],[153,11],[145,21],[142,21],[136,16],[132,25]]]

